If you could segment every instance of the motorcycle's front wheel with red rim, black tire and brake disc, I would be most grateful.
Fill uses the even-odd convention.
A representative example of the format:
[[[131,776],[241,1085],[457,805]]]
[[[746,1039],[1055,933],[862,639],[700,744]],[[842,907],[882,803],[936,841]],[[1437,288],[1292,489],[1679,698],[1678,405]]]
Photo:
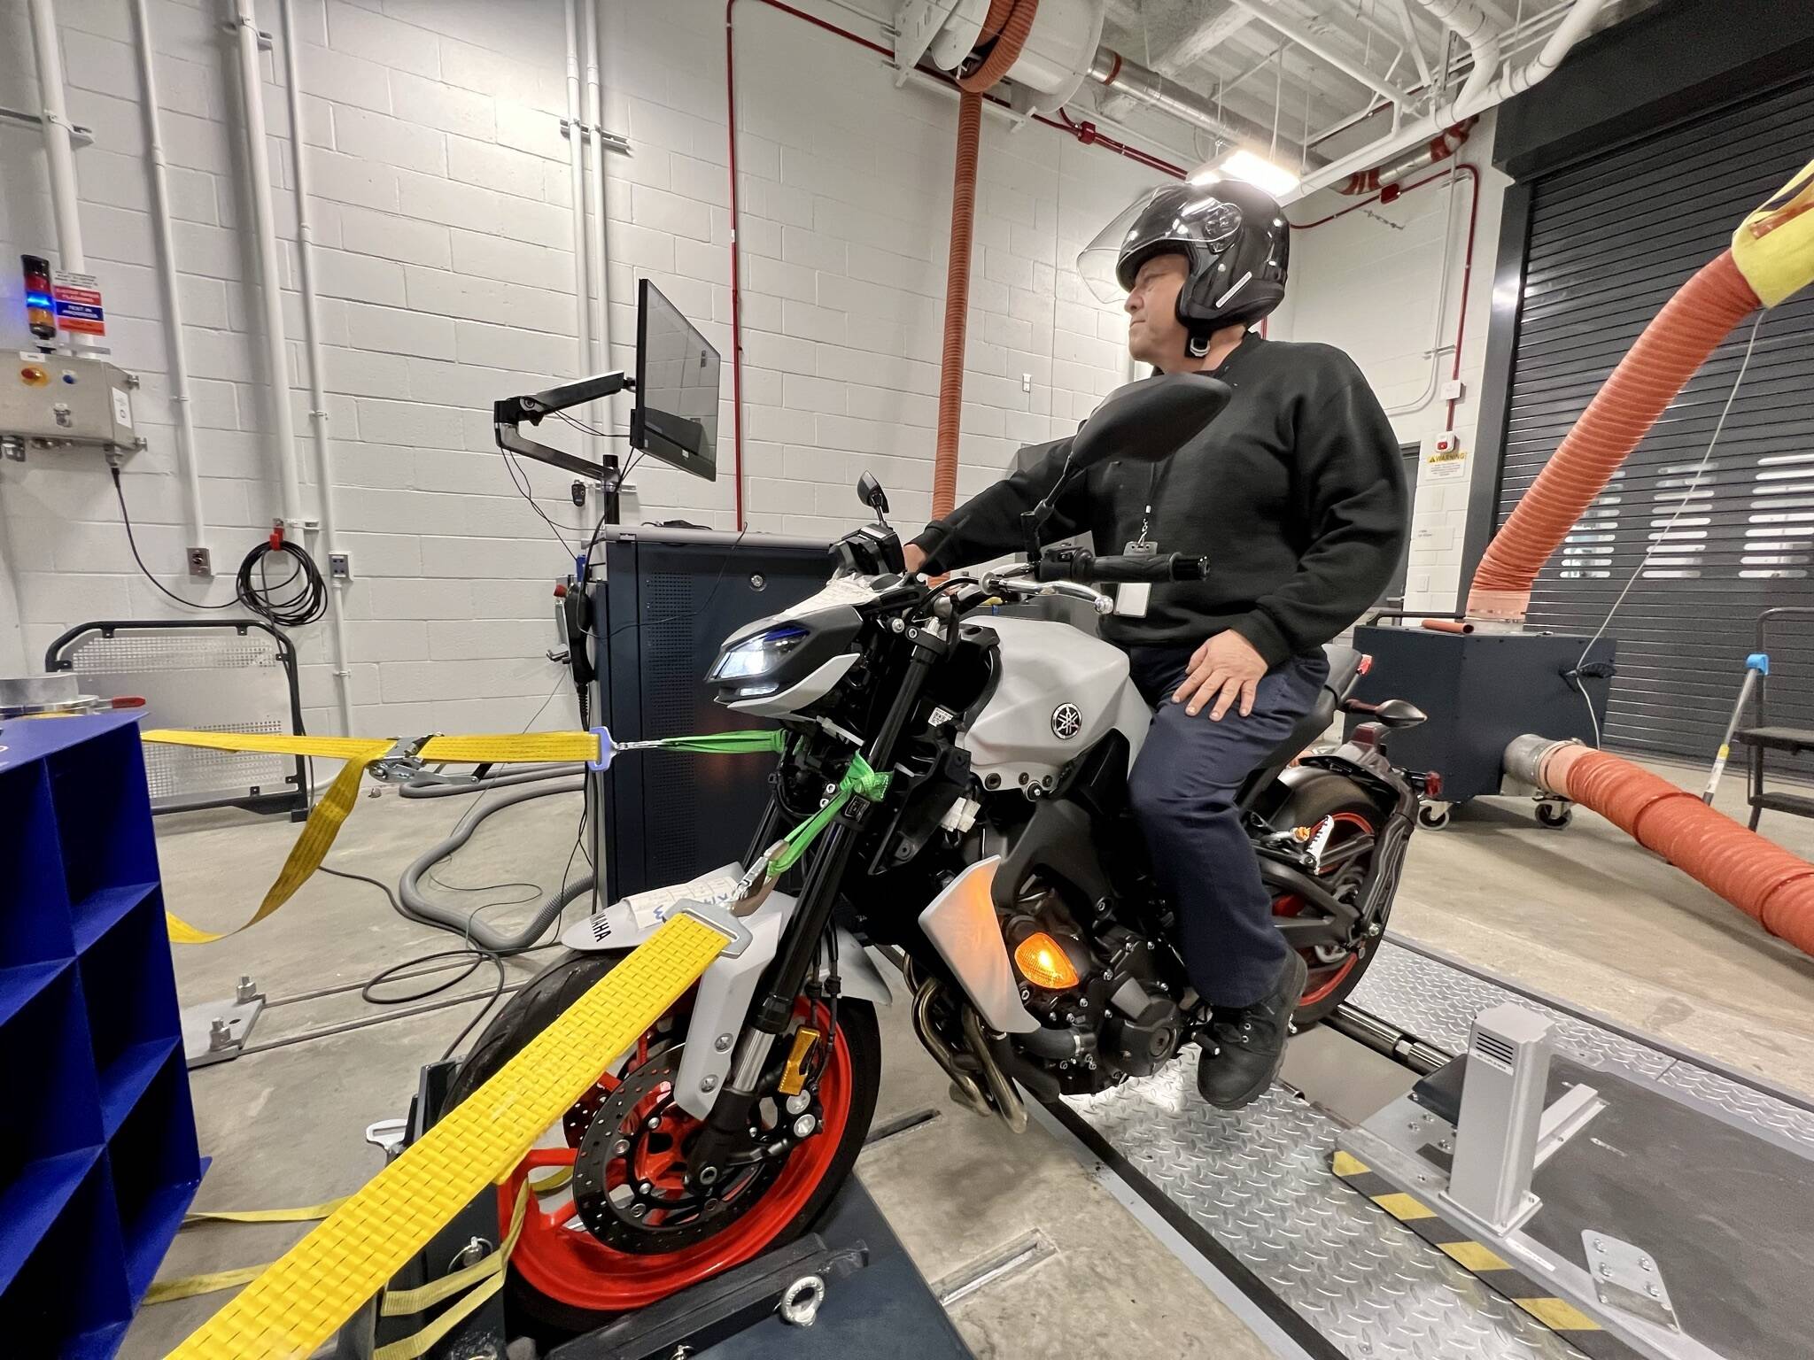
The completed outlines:
[[[448,1103],[479,1090],[624,957],[568,954],[542,968],[479,1035],[454,1075]],[[517,1324],[542,1342],[600,1327],[620,1313],[793,1240],[825,1209],[862,1151],[876,1110],[882,1037],[871,1005],[842,999],[816,1083],[820,1132],[798,1142],[778,1168],[771,1164],[740,1184],[720,1186],[724,1199],[713,1200],[709,1209],[688,1200],[686,1148],[700,1124],[673,1104],[666,1077],[686,1041],[691,1003],[688,992],[635,1046],[606,1064],[597,1086],[550,1128],[499,1188],[502,1239],[524,1179],[539,1186],[559,1182],[553,1190],[532,1190],[510,1257],[508,1307]],[[802,999],[796,1023],[809,1019],[824,1030],[829,1015],[822,1003]],[[778,1041],[776,1050],[785,1054],[787,1041]],[[619,1090],[620,1112],[613,1104]],[[595,1132],[593,1139],[608,1161],[595,1155],[588,1168],[577,1159],[584,1159],[586,1133],[600,1119],[611,1128]],[[787,1115],[776,1108],[767,1119],[778,1124]],[[561,1177],[561,1168],[573,1177]],[[604,1191],[593,1200],[591,1217],[595,1224],[600,1219],[608,1224],[613,1242],[595,1235],[579,1211],[575,1190],[586,1180]],[[633,1197],[631,1188],[646,1197]],[[628,1213],[613,1209],[613,1199],[624,1200]]]

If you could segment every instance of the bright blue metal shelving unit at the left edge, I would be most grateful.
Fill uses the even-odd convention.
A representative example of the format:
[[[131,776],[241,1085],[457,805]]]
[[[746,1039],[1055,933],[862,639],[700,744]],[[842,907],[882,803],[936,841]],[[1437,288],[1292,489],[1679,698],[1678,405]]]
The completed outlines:
[[[201,1182],[132,714],[0,724],[0,1336],[111,1356]]]

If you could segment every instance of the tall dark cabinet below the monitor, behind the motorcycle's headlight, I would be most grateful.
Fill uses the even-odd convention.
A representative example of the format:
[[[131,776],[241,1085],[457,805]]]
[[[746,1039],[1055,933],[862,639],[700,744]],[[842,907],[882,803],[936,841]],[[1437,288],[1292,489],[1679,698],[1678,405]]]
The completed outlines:
[[[595,549],[595,559],[600,553]],[[829,544],[767,533],[608,526],[591,582],[593,722],[619,740],[767,725],[706,691],[718,644],[831,577]],[[744,854],[767,801],[771,756],[651,751],[593,774],[600,901],[678,883]]]

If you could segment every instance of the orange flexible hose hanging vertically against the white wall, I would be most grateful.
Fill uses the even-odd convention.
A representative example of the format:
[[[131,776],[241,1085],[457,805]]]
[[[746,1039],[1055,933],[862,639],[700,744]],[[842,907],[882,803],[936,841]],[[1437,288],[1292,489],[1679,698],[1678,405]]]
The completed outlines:
[[[980,42],[992,44],[969,74],[958,76],[958,161],[951,181],[951,257],[945,265],[945,341],[938,364],[938,444],[932,455],[932,519],[958,504],[958,432],[963,424],[963,341],[970,310],[970,238],[976,221],[976,158],[983,134],[983,92],[1014,65],[1032,33],[1039,0],[990,0]]]

